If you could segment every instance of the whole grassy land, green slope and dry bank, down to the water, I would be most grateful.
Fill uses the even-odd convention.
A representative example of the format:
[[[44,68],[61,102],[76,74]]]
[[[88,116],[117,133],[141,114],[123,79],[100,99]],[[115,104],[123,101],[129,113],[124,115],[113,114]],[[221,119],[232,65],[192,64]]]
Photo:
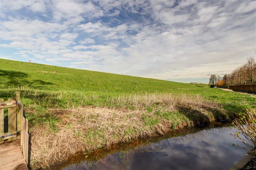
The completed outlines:
[[[0,98],[15,97],[16,90],[21,91],[32,134],[32,168],[113,143],[225,121],[256,107],[255,95],[206,84],[0,59]],[[60,136],[79,142],[61,142]],[[47,140],[37,140],[42,137]]]

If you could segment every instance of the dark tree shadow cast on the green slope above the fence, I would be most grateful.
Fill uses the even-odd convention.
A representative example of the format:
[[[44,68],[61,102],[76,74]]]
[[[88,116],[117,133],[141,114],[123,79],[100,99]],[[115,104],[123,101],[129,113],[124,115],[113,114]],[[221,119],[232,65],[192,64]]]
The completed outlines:
[[[43,80],[27,80],[29,75],[27,73],[13,71],[13,70],[1,70],[0,76],[3,79],[7,79],[6,87],[9,86],[30,86],[36,87],[37,89],[45,89],[44,85],[54,85],[51,82],[43,81]]]

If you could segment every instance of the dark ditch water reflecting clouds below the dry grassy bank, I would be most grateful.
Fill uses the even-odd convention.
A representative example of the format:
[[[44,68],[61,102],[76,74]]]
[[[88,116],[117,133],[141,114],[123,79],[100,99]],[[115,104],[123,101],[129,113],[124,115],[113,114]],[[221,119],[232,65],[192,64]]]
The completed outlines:
[[[203,129],[182,129],[165,136],[114,145],[99,149],[87,158],[85,154],[51,169],[113,170],[228,170],[246,153],[233,146],[242,143],[230,135],[228,124],[210,125]]]

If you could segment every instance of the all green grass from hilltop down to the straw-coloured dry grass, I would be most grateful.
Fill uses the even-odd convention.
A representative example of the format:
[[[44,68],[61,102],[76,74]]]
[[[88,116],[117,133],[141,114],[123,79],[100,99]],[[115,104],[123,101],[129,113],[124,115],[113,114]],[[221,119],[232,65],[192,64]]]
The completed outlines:
[[[120,107],[111,102],[113,98],[135,94],[200,95],[224,104],[225,109],[234,112],[256,106],[252,95],[209,88],[207,84],[177,83],[4,59],[0,59],[0,63],[0,97],[6,100],[14,97],[15,90],[21,90],[22,103],[36,112],[27,112],[33,124],[48,119],[48,108]],[[129,108],[127,103],[122,106]]]

